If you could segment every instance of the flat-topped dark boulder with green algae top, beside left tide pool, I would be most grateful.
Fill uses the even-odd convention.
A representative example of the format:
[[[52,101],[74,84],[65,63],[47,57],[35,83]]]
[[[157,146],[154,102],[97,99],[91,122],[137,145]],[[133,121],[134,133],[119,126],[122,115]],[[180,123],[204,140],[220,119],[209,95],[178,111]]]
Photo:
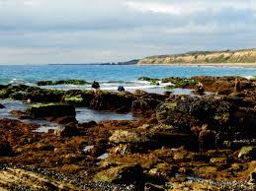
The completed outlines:
[[[63,103],[33,104],[26,110],[27,114],[33,118],[45,118],[48,116],[75,116],[75,107]]]

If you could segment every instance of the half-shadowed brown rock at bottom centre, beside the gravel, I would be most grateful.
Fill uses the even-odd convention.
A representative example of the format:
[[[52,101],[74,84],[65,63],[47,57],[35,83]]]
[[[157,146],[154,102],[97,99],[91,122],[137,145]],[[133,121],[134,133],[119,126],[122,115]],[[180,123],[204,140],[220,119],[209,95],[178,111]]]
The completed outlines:
[[[94,176],[97,182],[133,183],[141,181],[142,167],[139,164],[118,165],[98,172]]]

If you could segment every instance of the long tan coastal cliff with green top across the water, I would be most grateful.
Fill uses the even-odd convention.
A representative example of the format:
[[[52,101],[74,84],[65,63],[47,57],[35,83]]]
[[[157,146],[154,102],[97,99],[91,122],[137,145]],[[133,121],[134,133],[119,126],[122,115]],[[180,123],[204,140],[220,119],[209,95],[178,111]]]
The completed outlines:
[[[168,64],[218,64],[218,63],[255,63],[256,48],[225,51],[193,51],[184,54],[159,55],[142,58],[138,65]]]

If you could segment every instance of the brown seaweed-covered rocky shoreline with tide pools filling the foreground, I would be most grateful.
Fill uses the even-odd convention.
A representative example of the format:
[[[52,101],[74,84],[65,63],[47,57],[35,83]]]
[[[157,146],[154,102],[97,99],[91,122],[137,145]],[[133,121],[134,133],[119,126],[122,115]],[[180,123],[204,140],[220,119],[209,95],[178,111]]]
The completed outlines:
[[[6,190],[254,190],[256,81],[236,77],[144,79],[205,96],[0,86],[0,98],[33,103],[0,119],[0,188]],[[171,90],[170,90],[171,91]],[[76,106],[139,113],[136,121],[78,123]],[[4,107],[5,105],[0,105]],[[0,116],[1,117],[1,116]],[[60,124],[39,133],[39,124]]]

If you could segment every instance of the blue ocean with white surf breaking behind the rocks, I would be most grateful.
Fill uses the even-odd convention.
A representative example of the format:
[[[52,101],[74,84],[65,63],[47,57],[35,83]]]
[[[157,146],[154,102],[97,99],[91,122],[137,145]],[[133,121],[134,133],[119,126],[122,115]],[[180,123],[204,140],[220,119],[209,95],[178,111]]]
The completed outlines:
[[[117,91],[124,86],[127,91],[136,89],[148,92],[159,91],[161,87],[138,81],[139,77],[166,78],[192,76],[256,76],[256,68],[213,67],[213,66],[137,66],[137,65],[0,65],[0,84],[27,84],[37,81],[81,79],[98,81],[101,90]],[[54,89],[90,89],[86,86],[54,86]]]

